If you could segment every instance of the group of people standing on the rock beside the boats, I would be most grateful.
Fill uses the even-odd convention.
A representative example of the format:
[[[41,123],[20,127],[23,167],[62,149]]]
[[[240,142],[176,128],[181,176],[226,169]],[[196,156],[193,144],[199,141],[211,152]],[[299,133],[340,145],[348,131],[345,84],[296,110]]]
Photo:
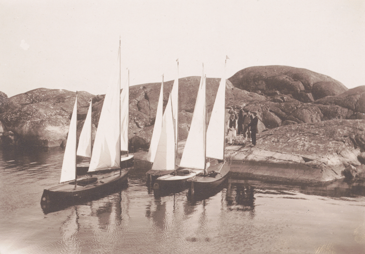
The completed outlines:
[[[239,112],[237,112],[231,107],[228,111],[230,118],[227,121],[228,128],[228,144],[233,144],[236,140],[237,135],[243,135],[245,140],[247,137],[252,142],[252,145],[256,145],[256,133],[258,116],[256,111],[245,111],[242,106],[239,107]],[[233,141],[233,142],[232,142]]]

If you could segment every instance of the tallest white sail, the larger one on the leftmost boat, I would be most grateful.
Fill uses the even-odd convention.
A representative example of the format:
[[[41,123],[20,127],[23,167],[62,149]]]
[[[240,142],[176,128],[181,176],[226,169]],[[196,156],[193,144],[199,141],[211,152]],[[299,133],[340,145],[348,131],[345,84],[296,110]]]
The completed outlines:
[[[119,76],[116,71],[115,75]],[[89,171],[120,167],[120,83],[108,86],[97,126]]]

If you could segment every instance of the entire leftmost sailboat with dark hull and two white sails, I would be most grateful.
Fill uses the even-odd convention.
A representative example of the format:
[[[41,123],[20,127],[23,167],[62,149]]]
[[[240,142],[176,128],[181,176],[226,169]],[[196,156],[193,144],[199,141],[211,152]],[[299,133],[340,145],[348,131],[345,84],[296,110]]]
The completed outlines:
[[[81,179],[77,179],[76,175],[76,96],[62,163],[60,184],[43,191],[41,205],[42,203],[62,202],[62,199],[65,198],[84,197],[104,188],[127,183],[128,171],[120,169],[120,78],[116,83],[117,85],[115,85],[115,80],[112,80],[105,94],[88,175]]]

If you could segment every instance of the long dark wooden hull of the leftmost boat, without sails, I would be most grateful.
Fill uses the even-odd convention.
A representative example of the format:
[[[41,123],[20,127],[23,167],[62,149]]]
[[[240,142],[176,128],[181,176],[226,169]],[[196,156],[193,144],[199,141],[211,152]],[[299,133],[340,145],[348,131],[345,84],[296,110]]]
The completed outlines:
[[[57,202],[64,199],[75,199],[105,191],[128,182],[128,171],[114,171],[104,174],[85,176],[74,181],[55,185],[43,190],[42,203]]]

